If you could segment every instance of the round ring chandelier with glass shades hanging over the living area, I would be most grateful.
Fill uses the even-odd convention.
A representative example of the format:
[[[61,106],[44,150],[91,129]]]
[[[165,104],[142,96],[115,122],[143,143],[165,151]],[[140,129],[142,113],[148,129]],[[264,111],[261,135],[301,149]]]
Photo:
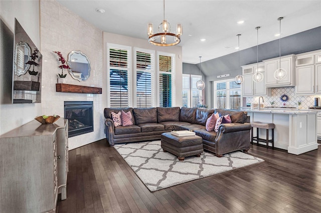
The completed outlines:
[[[169,47],[177,45],[181,42],[181,35],[183,33],[182,24],[176,25],[176,34],[171,33],[171,25],[168,20],[165,19],[165,0],[164,0],[164,19],[161,24],[158,25],[158,33],[153,33],[152,23],[147,24],[148,42],[152,45]],[[159,32],[162,30],[162,32]]]

